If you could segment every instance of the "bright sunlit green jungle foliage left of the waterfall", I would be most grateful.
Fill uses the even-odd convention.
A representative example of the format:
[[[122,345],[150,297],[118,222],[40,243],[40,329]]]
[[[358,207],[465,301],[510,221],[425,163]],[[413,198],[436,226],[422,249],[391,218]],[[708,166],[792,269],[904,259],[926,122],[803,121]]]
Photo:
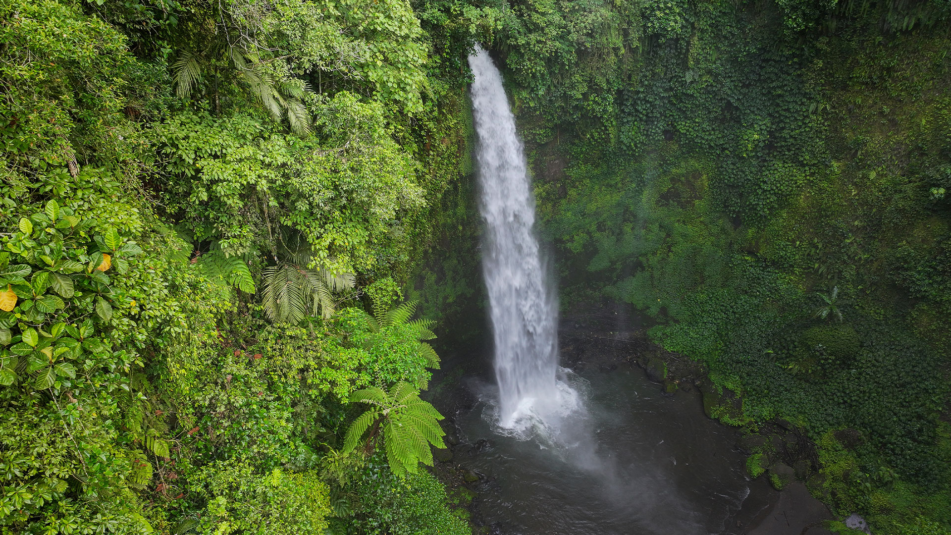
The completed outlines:
[[[468,532],[428,445],[339,446],[359,390],[442,434],[393,305],[469,166],[440,9],[0,2],[0,532]]]

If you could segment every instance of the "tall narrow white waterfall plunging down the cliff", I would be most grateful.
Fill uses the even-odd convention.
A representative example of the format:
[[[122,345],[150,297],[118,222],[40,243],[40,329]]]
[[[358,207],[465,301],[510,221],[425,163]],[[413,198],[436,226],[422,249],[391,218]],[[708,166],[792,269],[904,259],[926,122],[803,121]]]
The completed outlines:
[[[534,235],[534,197],[525,153],[488,52],[469,56],[478,136],[476,163],[485,220],[482,270],[495,338],[499,424],[525,418],[551,425],[563,405],[557,381],[557,304]]]

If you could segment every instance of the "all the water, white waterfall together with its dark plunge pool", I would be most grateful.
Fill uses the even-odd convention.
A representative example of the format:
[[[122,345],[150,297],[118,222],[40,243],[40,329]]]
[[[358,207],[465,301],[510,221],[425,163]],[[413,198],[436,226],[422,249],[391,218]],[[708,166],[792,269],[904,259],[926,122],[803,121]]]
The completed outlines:
[[[659,400],[637,372],[559,371],[522,144],[489,54],[469,63],[497,386],[470,382],[479,405],[459,423],[470,444],[492,437],[471,452],[491,474],[481,513],[524,534],[723,531],[749,492],[742,462],[716,459],[730,445],[723,429]]]

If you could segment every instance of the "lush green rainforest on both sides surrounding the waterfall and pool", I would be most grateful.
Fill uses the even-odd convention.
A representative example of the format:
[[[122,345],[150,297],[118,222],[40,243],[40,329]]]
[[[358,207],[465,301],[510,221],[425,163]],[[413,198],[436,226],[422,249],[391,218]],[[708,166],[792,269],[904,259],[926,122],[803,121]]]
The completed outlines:
[[[476,43],[563,313],[951,533],[947,0],[0,0],[0,532],[472,532],[423,398],[482,295]]]

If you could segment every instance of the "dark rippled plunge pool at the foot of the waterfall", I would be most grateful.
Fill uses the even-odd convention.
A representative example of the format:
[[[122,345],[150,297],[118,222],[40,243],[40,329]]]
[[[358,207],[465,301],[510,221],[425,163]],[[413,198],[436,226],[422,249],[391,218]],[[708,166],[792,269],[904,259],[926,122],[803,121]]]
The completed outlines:
[[[455,462],[483,476],[476,512],[519,535],[722,533],[749,493],[734,431],[697,395],[666,396],[638,368],[569,374],[585,410],[530,438],[495,425],[493,386],[457,415]],[[480,442],[485,439],[487,442]]]

